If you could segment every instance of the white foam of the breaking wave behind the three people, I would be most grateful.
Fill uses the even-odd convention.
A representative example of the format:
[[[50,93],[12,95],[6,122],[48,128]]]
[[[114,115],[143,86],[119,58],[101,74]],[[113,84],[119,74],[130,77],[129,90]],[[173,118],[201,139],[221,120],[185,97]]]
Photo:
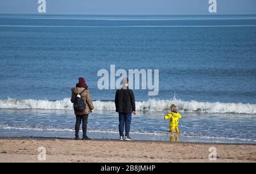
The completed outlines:
[[[179,111],[192,113],[236,113],[256,114],[256,105],[250,103],[221,103],[172,100],[147,100],[137,101],[138,111],[167,111],[171,103],[174,103]],[[114,101],[93,101],[95,110],[115,110]],[[46,110],[72,110],[73,104],[70,98],[63,100],[17,100],[8,98],[0,100],[0,109],[46,109]]]

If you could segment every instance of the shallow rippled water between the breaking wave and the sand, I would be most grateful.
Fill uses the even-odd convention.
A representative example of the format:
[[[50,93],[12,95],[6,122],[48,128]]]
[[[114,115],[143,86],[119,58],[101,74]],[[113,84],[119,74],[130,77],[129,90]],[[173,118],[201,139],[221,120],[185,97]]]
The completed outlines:
[[[10,111],[0,109],[0,114],[2,115],[1,136],[42,136],[46,138],[52,136],[56,138],[73,138],[75,136],[75,116],[73,111]],[[40,117],[38,118],[39,115]],[[184,113],[180,121],[180,134],[169,132],[169,121],[164,120],[162,115],[164,115],[162,112],[138,112],[133,117],[130,130],[131,138],[134,140],[167,142],[256,144],[256,134],[254,134],[255,130],[253,129],[253,127],[256,127],[255,115]],[[222,119],[228,121],[224,123]],[[56,125],[58,122],[61,122],[61,124]],[[119,139],[118,124],[118,114],[97,111],[89,115],[88,136],[94,139]],[[236,130],[237,126],[246,127],[245,131],[241,134]]]

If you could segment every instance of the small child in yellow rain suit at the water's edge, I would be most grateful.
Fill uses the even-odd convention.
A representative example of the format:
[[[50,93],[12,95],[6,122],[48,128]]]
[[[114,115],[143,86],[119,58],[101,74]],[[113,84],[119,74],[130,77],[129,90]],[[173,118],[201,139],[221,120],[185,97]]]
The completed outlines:
[[[164,119],[170,119],[170,132],[180,132],[179,119],[181,115],[177,112],[177,108],[174,104],[171,105],[171,111],[168,115],[164,116]]]

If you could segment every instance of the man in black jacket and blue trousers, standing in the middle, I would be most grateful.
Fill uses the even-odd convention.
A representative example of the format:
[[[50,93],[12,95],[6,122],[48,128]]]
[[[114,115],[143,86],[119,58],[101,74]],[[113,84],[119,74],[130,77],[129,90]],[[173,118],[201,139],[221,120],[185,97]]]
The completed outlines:
[[[128,78],[123,78],[122,88],[117,89],[115,93],[115,111],[119,114],[119,139],[124,140],[123,129],[125,127],[125,140],[132,140],[129,136],[131,113],[136,115],[136,109],[133,90],[129,89]]]

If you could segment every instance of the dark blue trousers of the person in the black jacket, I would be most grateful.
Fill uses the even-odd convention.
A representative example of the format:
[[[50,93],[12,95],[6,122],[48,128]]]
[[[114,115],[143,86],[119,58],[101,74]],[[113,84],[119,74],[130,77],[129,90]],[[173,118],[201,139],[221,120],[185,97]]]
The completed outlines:
[[[123,136],[123,129],[125,128],[125,136],[129,136],[131,127],[131,113],[119,114],[119,135]]]

